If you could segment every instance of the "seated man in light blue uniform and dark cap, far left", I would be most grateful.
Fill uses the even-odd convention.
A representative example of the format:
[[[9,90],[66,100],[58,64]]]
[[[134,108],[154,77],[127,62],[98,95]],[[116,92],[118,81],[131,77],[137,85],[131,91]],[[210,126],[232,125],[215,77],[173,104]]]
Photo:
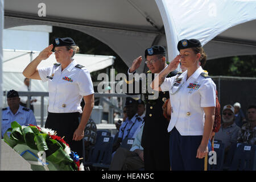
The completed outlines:
[[[6,130],[11,127],[11,122],[13,121],[18,122],[21,126],[27,124],[36,126],[33,111],[21,106],[19,103],[20,98],[18,92],[15,90],[7,92],[7,104],[9,106],[2,109],[2,137]]]

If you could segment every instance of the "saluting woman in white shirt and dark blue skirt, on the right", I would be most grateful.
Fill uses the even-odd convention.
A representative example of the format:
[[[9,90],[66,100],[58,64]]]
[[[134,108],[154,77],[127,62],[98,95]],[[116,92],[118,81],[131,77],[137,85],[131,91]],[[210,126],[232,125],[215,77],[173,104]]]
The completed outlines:
[[[177,44],[180,55],[154,79],[152,89],[170,92],[170,162],[172,170],[204,170],[214,122],[216,85],[202,67],[207,56],[197,39]],[[181,63],[187,71],[166,78]],[[207,159],[207,158],[206,158]]]

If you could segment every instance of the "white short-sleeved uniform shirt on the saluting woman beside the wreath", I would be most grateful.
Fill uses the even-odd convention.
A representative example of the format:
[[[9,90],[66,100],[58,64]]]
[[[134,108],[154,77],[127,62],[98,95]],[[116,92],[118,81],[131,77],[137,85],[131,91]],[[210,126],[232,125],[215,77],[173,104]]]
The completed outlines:
[[[48,81],[50,113],[82,113],[82,96],[94,93],[89,71],[76,65],[73,60],[62,72],[61,65],[38,69],[41,80]]]

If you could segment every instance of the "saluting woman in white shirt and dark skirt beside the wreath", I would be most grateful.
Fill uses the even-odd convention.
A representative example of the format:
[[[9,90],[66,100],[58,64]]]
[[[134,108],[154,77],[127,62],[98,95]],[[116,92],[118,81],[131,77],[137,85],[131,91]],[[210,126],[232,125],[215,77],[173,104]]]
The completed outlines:
[[[47,68],[37,68],[55,52],[57,63]],[[94,90],[89,71],[73,59],[79,50],[71,38],[56,38],[23,71],[27,78],[48,81],[49,106],[46,128],[57,131],[71,150],[82,156],[84,129],[94,105]],[[46,60],[47,61],[47,60]],[[82,110],[80,103],[84,98]],[[79,115],[82,113],[81,121]]]

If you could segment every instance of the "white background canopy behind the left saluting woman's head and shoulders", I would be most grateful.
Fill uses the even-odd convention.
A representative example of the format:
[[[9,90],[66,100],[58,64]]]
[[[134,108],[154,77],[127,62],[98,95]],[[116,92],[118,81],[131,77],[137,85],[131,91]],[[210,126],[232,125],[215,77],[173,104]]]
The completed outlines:
[[[3,90],[18,89],[23,85],[24,76],[22,72],[24,68],[39,55],[38,51],[20,51],[3,49]],[[83,55],[75,54],[73,59],[77,64],[84,65],[89,72],[98,71],[114,64],[114,56],[100,55]],[[56,62],[55,56],[52,54],[47,60],[43,60],[38,68],[49,67]],[[32,80],[32,91],[48,92],[47,83]]]

